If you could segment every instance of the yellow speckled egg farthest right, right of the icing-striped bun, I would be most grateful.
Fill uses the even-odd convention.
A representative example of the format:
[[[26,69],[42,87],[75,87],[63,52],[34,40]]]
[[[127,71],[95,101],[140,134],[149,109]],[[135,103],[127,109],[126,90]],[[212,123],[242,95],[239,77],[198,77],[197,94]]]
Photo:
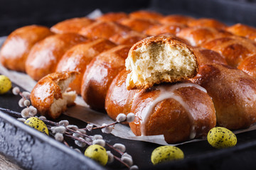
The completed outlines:
[[[234,147],[237,143],[235,134],[227,128],[223,127],[212,128],[208,132],[207,140],[210,145],[218,149]]]

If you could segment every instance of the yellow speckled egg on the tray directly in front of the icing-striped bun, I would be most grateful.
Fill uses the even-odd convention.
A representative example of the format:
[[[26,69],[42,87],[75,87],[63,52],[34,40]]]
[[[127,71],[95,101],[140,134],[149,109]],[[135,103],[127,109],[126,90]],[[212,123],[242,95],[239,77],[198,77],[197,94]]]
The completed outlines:
[[[176,159],[183,159],[184,154],[181,149],[173,146],[161,146],[154,149],[151,154],[151,162],[159,164],[161,162],[168,162]]]

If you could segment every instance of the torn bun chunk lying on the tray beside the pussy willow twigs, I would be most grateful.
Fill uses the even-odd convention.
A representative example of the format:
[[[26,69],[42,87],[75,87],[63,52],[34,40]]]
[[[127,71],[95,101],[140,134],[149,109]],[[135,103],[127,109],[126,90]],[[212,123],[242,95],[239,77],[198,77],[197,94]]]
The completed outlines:
[[[41,115],[58,118],[67,106],[74,105],[75,91],[67,91],[78,72],[55,72],[38,81],[31,91],[31,103]]]

